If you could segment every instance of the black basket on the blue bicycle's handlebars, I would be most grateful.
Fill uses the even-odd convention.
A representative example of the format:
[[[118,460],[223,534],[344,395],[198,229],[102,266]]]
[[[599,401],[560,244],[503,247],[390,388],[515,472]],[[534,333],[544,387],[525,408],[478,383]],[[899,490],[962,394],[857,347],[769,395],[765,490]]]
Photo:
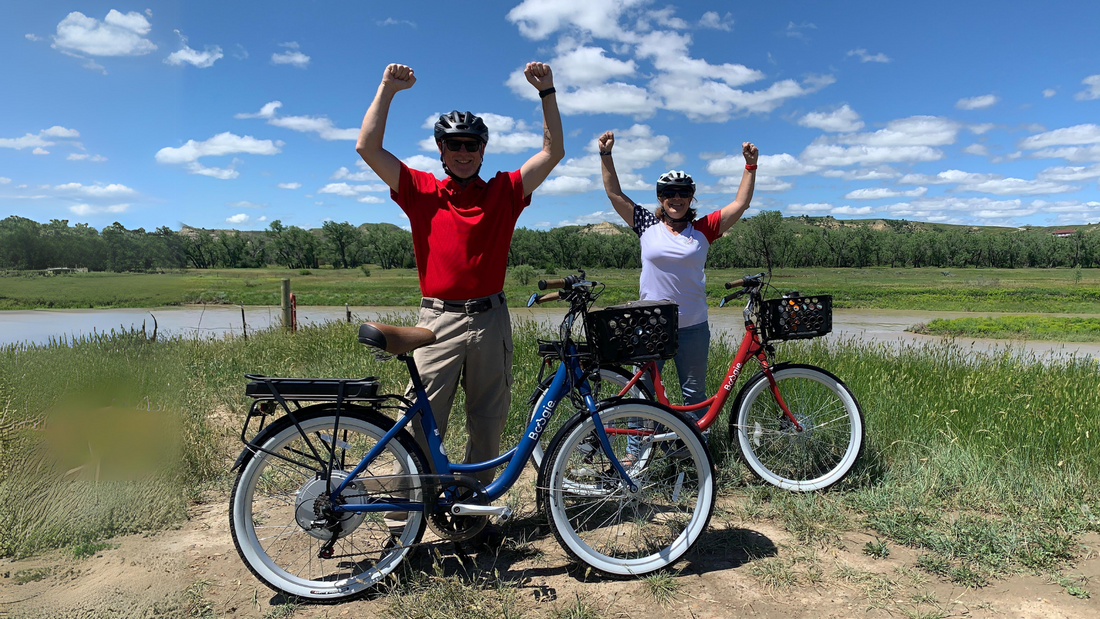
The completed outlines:
[[[670,301],[631,301],[590,311],[588,345],[598,363],[672,358],[676,355],[680,312]]]

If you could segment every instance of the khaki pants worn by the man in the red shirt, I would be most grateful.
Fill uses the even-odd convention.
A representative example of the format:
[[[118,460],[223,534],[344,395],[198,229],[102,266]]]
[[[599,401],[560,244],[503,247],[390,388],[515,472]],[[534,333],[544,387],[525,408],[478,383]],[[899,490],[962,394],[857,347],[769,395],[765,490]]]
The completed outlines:
[[[435,299],[430,299],[435,300]],[[459,384],[466,395],[466,454],[463,462],[485,462],[501,454],[501,433],[512,407],[512,320],[508,307],[466,316],[443,311],[442,302],[420,308],[417,327],[436,333],[436,343],[413,352],[420,378],[428,391],[428,401],[439,425],[440,436],[447,435]],[[409,384],[408,397],[415,397]],[[413,433],[428,455],[419,419],[414,419]],[[493,480],[494,471],[475,475],[482,484]]]

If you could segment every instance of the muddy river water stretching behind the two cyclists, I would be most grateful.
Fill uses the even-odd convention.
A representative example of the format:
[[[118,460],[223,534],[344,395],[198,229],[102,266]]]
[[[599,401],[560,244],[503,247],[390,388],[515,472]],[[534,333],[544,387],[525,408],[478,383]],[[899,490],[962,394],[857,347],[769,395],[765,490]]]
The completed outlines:
[[[377,320],[394,312],[409,313],[407,307],[354,307],[352,320]],[[557,325],[565,312],[564,307],[509,308],[513,319],[537,320]],[[905,332],[913,324],[928,322],[934,318],[959,318],[967,316],[1014,316],[998,312],[950,312],[919,310],[833,310],[833,333],[827,338],[858,336],[871,341],[920,342],[936,340],[931,335]],[[240,334],[242,331],[241,308],[239,306],[184,306],[154,309],[72,309],[72,310],[9,310],[0,311],[0,345],[21,342],[44,344],[51,339],[70,339],[74,335],[109,332],[114,330],[141,330],[152,334],[154,319],[161,335],[184,335],[212,338]],[[249,306],[244,308],[244,323],[249,331],[267,329],[278,324],[282,311],[278,307]],[[344,320],[342,307],[298,308],[299,324],[315,324],[330,320]],[[725,331],[739,339],[744,333],[740,308],[711,308],[711,328],[715,333]],[[1004,340],[956,339],[961,345],[972,345],[977,351],[1004,347]],[[1089,355],[1100,357],[1100,343],[1059,343],[1038,341],[1013,341],[1015,350],[1040,355]]]

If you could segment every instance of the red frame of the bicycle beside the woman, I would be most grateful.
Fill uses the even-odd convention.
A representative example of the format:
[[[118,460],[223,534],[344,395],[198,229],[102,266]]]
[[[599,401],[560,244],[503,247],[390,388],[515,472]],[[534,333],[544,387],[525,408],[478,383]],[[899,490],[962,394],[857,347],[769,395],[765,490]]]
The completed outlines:
[[[638,368],[618,395],[625,396],[630,391],[630,389],[634,388],[635,385],[637,385],[638,380],[640,380],[642,376],[649,374],[653,384],[653,396],[657,398],[657,401],[680,412],[694,412],[707,409],[706,413],[696,422],[700,430],[706,430],[718,419],[722,408],[726,406],[726,401],[734,393],[734,385],[737,384],[737,378],[741,375],[745,364],[748,363],[750,358],[756,358],[760,363],[760,367],[763,369],[765,376],[768,377],[771,394],[774,396],[776,402],[779,404],[783,414],[785,414],[791,423],[794,424],[795,431],[801,432],[802,424],[799,423],[799,420],[791,413],[790,409],[787,407],[787,402],[783,401],[783,396],[779,393],[779,387],[776,385],[776,378],[771,373],[771,365],[768,363],[767,349],[760,338],[760,330],[751,320],[749,320],[749,316],[751,313],[750,308],[754,301],[755,298],[750,298],[745,308],[745,336],[741,339],[741,345],[737,349],[737,354],[734,356],[734,361],[729,364],[729,369],[726,372],[726,378],[723,380],[722,387],[718,388],[718,393],[694,405],[676,406],[670,404],[669,397],[664,393],[664,384],[661,382],[661,372],[657,367],[657,361],[648,361]],[[612,432],[624,432],[624,430],[613,429]]]

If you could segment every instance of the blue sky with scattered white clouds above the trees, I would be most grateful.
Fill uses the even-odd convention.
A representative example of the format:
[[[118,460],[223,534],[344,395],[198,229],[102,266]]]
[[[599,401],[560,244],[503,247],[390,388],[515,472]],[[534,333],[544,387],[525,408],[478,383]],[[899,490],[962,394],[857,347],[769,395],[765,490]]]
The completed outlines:
[[[451,109],[490,121],[484,172],[540,147],[518,71],[543,60],[566,161],[520,225],[617,221],[608,129],[642,203],[675,168],[722,207],[752,141],[757,209],[1096,222],[1097,23],[1097,2],[20,2],[0,22],[0,218],[405,226],[354,152],[386,64],[418,81],[385,146],[441,176],[429,119]]]

